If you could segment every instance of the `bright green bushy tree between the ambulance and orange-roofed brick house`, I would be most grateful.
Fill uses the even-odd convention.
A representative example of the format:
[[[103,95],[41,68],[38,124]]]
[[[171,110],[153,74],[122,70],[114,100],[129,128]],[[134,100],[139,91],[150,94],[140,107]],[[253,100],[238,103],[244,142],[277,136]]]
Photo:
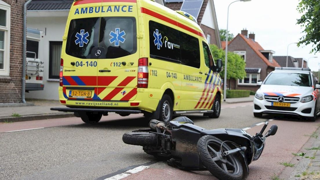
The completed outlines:
[[[222,60],[222,64],[224,65],[225,61],[225,51],[219,49],[216,45],[210,45],[211,53],[213,59],[216,61],[217,59]],[[241,56],[238,54],[228,52],[228,64],[227,64],[227,79],[242,79],[246,76],[245,73],[245,62]],[[224,68],[220,72],[220,76],[224,77]]]

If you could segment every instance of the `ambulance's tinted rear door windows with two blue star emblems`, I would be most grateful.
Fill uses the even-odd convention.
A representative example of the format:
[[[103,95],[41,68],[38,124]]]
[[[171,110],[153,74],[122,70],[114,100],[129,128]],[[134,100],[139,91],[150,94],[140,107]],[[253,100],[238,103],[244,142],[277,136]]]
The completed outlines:
[[[103,49],[100,59],[113,59],[137,51],[134,17],[82,18],[70,21],[66,53],[82,59],[95,59],[95,51]]]

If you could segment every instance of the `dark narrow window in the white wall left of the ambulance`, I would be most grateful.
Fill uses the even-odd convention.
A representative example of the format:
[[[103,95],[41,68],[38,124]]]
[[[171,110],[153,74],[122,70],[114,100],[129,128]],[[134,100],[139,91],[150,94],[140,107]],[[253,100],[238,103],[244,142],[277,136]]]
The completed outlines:
[[[49,79],[59,79],[62,41],[50,41]]]

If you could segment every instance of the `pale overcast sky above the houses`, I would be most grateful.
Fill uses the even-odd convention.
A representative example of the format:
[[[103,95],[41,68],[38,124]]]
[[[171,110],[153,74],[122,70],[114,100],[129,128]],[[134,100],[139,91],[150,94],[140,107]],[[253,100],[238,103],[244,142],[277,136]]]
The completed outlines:
[[[235,0],[213,0],[218,19],[219,29],[227,29],[228,5]],[[296,25],[300,18],[296,10],[298,0],[252,0],[249,2],[235,2],[229,8],[228,30],[236,36],[246,28],[248,34],[254,32],[257,41],[265,50],[273,50],[275,56],[286,56],[287,46],[298,42],[302,37],[300,25]],[[297,47],[289,45],[289,56],[294,58],[310,57],[309,68],[318,71],[320,53],[311,53],[312,45]]]

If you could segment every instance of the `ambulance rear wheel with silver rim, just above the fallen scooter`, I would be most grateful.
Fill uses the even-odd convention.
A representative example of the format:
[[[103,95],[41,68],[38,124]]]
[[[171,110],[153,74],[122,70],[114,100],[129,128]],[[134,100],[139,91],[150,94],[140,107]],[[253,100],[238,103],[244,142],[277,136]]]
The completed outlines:
[[[160,121],[164,122],[165,124],[169,124],[172,119],[173,114],[173,106],[172,106],[172,99],[168,94],[164,94],[160,101],[161,109],[160,109]]]

